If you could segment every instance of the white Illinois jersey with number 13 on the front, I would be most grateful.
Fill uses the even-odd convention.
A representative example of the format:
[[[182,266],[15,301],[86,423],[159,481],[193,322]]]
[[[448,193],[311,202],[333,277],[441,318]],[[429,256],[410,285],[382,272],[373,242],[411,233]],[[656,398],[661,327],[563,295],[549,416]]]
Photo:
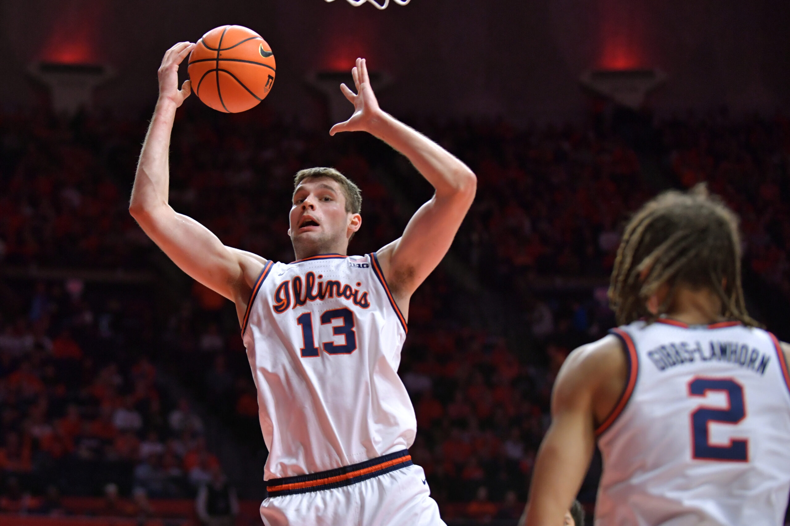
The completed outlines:
[[[375,254],[266,263],[242,334],[269,448],[265,479],[414,442],[414,408],[397,375],[406,324]]]

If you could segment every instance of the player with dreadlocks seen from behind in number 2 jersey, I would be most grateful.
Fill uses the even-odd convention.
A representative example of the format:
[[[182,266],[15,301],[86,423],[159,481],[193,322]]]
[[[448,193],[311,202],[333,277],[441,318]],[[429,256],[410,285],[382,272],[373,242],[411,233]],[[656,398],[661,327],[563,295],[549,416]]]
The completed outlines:
[[[596,441],[596,525],[783,524],[790,353],[748,315],[740,256],[704,187],[634,215],[609,289],[623,326],[559,372],[526,524],[562,524]]]

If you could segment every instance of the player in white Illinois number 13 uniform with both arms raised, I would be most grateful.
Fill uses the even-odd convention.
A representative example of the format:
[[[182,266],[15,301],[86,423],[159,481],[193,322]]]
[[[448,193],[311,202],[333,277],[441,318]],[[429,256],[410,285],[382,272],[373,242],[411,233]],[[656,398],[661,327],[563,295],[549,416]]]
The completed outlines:
[[[409,298],[445,256],[475,196],[461,161],[379,109],[356,61],[354,104],[337,132],[369,132],[401,151],[434,186],[403,236],[347,256],[362,226],[359,188],[331,168],[302,170],[290,213],[296,260],[276,263],[224,246],[167,203],[175,110],[190,95],[178,68],[193,44],[167,51],[130,212],[182,270],[232,300],[258,388],[269,459],[261,517],[284,524],[444,524],[408,447],[416,433],[398,378]],[[276,233],[280,234],[280,233]]]

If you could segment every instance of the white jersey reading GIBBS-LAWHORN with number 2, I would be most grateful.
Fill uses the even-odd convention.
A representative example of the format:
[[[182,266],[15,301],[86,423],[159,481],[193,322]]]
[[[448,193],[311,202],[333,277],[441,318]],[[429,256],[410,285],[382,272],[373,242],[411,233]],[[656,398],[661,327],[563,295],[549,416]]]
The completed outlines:
[[[773,334],[668,319],[612,332],[630,375],[596,430],[596,525],[784,524],[790,375]]]

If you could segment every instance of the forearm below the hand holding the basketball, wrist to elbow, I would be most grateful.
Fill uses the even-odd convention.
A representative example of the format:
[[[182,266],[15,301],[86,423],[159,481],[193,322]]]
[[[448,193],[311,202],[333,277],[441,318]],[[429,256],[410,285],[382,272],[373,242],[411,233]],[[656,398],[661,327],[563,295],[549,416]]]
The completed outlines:
[[[150,213],[157,207],[167,206],[170,185],[168,166],[170,134],[176,107],[175,103],[167,99],[160,99],[156,103],[156,110],[137,163],[129,205],[130,213],[138,220],[140,216]]]

